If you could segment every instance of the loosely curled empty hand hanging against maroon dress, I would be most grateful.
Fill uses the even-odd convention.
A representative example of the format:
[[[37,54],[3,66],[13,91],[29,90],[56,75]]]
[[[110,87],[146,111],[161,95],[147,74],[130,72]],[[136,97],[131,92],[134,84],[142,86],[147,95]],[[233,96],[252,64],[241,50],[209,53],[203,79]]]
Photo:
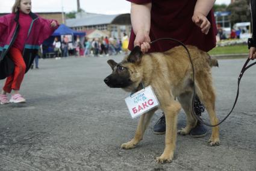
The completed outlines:
[[[210,30],[211,23],[202,13],[194,13],[192,16],[193,22],[201,28],[202,33],[208,34]]]

